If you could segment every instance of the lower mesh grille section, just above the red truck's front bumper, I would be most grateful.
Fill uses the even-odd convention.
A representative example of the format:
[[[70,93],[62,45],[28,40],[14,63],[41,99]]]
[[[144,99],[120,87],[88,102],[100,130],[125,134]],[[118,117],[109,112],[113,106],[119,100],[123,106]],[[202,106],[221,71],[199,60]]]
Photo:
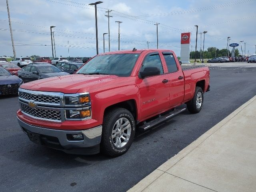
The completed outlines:
[[[31,108],[25,104],[20,104],[22,112],[29,114],[37,118],[60,120],[61,121],[61,112],[58,110],[46,110],[41,108]]]

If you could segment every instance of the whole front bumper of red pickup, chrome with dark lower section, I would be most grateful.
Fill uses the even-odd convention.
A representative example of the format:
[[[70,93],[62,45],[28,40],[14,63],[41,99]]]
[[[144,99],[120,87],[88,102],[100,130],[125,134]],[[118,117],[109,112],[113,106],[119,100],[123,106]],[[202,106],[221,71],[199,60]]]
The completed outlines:
[[[35,143],[57,150],[62,150],[69,154],[87,155],[97,154],[100,152],[102,126],[97,126],[87,130],[68,131],[33,126],[23,122],[19,118],[18,123],[22,130],[29,136],[30,140]],[[84,140],[68,140],[67,134],[82,134]],[[31,135],[34,135],[36,139],[33,140]]]

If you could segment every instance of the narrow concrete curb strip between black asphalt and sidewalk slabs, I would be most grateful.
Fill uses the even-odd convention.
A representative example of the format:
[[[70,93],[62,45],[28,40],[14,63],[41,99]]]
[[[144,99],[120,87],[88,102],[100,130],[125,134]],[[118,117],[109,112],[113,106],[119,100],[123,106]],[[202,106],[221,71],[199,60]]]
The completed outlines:
[[[142,179],[138,184],[134,187],[130,188],[128,192],[138,192],[145,190],[150,184],[152,184],[156,179],[158,179],[162,174],[164,174],[167,170],[172,168],[175,164],[177,164],[180,160],[182,160],[185,156],[187,156],[190,152],[192,152],[195,148],[200,146],[202,142],[204,142],[207,138],[209,138],[212,134],[218,131],[224,124],[234,118],[240,111],[242,111],[246,106],[256,100],[256,96],[248,100],[242,106],[234,110],[231,114],[229,114],[226,118],[220,121],[218,124],[210,128],[207,132],[202,134],[198,139],[194,142],[186,146],[183,150],[181,150],[178,154],[167,160],[164,164],[156,168],[152,173]]]

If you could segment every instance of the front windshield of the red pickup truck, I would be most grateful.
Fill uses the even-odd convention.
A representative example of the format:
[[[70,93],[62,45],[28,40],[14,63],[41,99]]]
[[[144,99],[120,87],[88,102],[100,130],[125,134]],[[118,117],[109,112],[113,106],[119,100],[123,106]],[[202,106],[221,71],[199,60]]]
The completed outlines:
[[[99,55],[88,61],[76,74],[130,76],[140,54]]]

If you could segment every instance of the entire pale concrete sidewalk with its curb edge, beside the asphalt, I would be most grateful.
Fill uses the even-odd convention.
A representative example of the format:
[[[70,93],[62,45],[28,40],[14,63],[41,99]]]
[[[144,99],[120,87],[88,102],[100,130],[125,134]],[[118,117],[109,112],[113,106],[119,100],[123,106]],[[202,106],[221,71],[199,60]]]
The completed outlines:
[[[128,192],[256,192],[256,96]]]

